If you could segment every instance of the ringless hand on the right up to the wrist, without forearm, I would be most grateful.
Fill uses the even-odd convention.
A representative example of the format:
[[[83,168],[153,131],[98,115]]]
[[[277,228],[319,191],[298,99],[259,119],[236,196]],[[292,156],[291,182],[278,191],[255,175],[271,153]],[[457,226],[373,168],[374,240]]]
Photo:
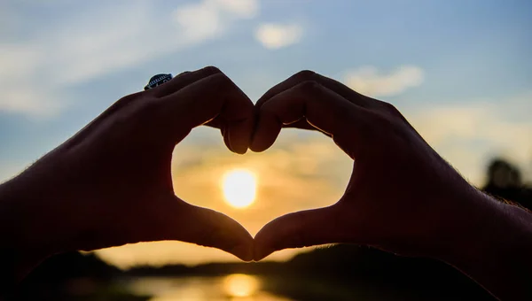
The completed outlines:
[[[348,188],[329,207],[293,212],[255,235],[254,259],[324,243],[357,243],[406,255],[436,256],[468,239],[479,192],[411,127],[394,106],[303,71],[255,104],[250,149],[264,151],[281,127],[332,136],[354,160]]]

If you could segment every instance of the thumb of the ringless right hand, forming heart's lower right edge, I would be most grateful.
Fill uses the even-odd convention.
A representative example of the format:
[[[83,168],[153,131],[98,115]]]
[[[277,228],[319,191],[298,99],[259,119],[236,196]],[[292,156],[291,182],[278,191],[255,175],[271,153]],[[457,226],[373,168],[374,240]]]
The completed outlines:
[[[274,251],[317,244],[340,243],[338,205],[293,212],[266,224],[254,237],[254,260]]]

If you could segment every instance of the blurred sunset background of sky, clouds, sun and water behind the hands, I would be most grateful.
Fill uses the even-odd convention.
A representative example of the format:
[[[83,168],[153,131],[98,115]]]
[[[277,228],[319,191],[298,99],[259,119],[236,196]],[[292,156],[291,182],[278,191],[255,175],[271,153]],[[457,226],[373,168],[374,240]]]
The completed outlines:
[[[256,101],[310,69],[394,104],[475,186],[532,207],[532,3],[527,0],[0,1],[0,181],[156,73],[217,66]],[[351,162],[324,135],[284,130],[231,154],[211,128],[176,147],[176,194],[254,235],[335,203]],[[289,189],[288,189],[289,188]],[[239,263],[137,243],[49,259],[27,300],[491,300],[450,266],[353,245]]]

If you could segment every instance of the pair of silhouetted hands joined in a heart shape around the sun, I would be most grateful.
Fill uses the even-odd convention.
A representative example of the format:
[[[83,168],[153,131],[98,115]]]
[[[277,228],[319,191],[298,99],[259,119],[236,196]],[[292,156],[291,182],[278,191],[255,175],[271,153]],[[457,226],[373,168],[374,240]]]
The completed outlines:
[[[220,128],[237,153],[268,149],[281,127],[322,131],[356,159],[348,189],[335,205],[279,217],[253,238],[237,221],[174,194],[172,151],[202,124]],[[244,260],[321,243],[436,250],[450,239],[439,225],[466,219],[446,213],[460,201],[456,191],[469,188],[390,104],[307,71],[254,105],[215,67],[121,98],[17,177],[13,191],[26,187],[20,181],[35,187],[22,195],[43,200],[21,207],[39,213],[28,213],[39,227],[19,225],[26,239],[15,243],[35,258],[156,240],[212,246]]]

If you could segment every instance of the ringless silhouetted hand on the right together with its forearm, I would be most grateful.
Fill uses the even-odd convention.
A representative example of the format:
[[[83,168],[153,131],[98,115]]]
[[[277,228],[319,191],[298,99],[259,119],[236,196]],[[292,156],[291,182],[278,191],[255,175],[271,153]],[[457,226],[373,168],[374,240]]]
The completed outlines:
[[[336,204],[264,226],[255,260],[285,248],[366,244],[445,261],[501,299],[532,298],[532,214],[474,189],[394,106],[303,71],[255,108],[252,151],[268,149],[281,127],[314,128],[355,161]]]

